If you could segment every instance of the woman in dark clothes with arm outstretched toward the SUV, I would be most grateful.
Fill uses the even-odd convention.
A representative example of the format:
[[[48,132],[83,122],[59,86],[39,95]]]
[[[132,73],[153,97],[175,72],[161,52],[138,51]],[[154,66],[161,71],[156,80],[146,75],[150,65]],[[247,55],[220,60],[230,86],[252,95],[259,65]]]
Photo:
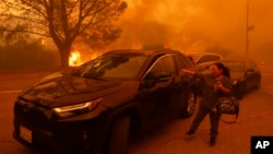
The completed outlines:
[[[215,145],[215,140],[218,134],[218,121],[221,114],[217,112],[216,102],[221,96],[229,95],[232,92],[232,81],[229,80],[229,70],[223,63],[216,62],[210,68],[211,73],[201,74],[189,70],[182,70],[183,73],[192,74],[200,79],[202,84],[202,98],[200,100],[199,110],[186,138],[190,138],[197,131],[199,125],[205,116],[210,114],[211,123],[211,140],[210,145]]]

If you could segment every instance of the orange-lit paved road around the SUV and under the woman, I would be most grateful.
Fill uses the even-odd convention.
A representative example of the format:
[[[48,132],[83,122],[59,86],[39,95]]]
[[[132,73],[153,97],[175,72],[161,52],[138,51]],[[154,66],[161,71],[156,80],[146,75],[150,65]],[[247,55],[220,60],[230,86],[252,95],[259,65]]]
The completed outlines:
[[[250,154],[251,135],[273,135],[273,67],[262,66],[262,84],[241,100],[237,123],[221,122],[214,147],[209,147],[209,118],[192,140],[183,140],[192,118],[176,119],[158,126],[144,135],[134,137],[129,154]],[[0,154],[43,154],[28,150],[12,139],[12,106],[19,92],[46,73],[0,75]],[[223,117],[232,120],[234,117]]]

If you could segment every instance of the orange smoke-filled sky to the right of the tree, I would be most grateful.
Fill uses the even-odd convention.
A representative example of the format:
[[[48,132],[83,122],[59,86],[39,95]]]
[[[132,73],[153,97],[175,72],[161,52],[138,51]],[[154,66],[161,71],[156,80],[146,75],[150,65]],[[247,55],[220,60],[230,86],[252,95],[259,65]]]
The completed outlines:
[[[244,54],[247,16],[249,52],[273,46],[273,1],[249,0],[126,0],[128,9],[116,48],[167,44],[183,51],[204,51],[212,46]],[[272,48],[273,49],[273,48]],[[261,52],[260,52],[261,54]]]

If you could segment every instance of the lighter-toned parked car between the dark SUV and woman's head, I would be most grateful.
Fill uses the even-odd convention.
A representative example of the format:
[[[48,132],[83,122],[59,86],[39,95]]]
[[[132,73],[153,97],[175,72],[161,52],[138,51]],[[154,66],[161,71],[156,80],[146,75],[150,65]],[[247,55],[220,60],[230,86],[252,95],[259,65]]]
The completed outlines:
[[[213,62],[223,59],[222,55],[213,52],[190,52],[188,56],[192,58],[192,62],[195,63],[198,71],[204,71]]]

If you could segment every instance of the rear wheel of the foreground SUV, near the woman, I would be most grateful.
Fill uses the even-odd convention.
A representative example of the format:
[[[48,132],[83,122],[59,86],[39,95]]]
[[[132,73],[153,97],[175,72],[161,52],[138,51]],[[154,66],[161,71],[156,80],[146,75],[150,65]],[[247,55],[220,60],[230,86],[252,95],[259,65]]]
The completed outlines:
[[[189,90],[180,102],[182,103],[181,116],[190,117],[195,109],[197,94],[192,90]]]

